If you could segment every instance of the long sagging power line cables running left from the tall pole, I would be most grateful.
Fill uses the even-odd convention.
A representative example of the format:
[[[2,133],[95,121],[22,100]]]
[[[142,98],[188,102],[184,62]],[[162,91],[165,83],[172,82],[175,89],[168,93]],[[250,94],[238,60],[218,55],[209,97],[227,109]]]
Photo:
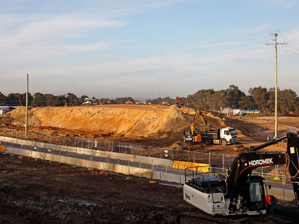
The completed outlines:
[[[200,45],[206,43],[219,43],[219,42],[231,42],[238,40],[255,39],[261,37],[268,37],[269,34],[261,34],[254,36],[243,36],[226,39],[211,39],[205,41],[193,41],[193,42],[176,42],[176,43],[162,43],[162,44],[148,44],[148,45],[120,45],[120,46],[52,46],[52,45],[15,45],[15,44],[0,44],[0,47],[16,47],[16,48],[42,48],[42,49],[65,49],[65,50],[105,50],[105,49],[130,49],[130,48],[157,48],[157,47],[174,47],[185,45]]]

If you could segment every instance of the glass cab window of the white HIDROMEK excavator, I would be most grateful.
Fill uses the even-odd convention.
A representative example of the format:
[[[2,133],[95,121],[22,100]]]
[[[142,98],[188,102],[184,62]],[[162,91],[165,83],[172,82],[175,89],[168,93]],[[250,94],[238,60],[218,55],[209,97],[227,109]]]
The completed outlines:
[[[250,205],[249,210],[262,210],[264,207],[263,203],[263,185],[261,182],[251,182],[249,185],[249,194],[250,194]]]

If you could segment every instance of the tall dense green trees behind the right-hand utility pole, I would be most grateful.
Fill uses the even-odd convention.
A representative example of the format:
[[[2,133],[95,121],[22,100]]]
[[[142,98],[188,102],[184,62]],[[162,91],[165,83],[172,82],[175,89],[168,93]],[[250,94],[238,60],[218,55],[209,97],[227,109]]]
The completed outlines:
[[[201,89],[187,96],[187,102],[200,109],[219,110],[221,107],[255,110],[262,113],[273,113],[275,110],[275,88],[261,86],[250,88],[249,95],[242,92],[238,86],[230,85],[228,89],[214,91]],[[299,97],[291,89],[277,89],[278,112],[299,114]]]

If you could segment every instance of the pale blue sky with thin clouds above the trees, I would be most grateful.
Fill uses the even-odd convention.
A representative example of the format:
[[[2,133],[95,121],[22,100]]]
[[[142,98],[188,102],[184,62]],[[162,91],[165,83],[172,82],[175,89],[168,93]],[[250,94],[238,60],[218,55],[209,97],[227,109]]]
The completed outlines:
[[[0,92],[96,98],[278,86],[299,95],[297,0],[0,0]],[[291,51],[291,52],[289,52]]]

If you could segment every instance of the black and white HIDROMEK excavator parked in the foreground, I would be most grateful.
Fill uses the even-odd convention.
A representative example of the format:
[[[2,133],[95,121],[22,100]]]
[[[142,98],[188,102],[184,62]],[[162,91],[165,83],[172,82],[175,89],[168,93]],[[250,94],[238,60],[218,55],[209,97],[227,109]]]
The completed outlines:
[[[299,131],[292,130],[284,137],[247,148],[235,157],[227,173],[224,165],[211,165],[209,173],[198,172],[196,167],[186,168],[184,200],[210,215],[265,214],[266,184],[263,177],[252,175],[252,171],[285,165],[285,175],[292,182],[299,209],[298,134]],[[286,152],[258,151],[283,139],[288,140]]]

